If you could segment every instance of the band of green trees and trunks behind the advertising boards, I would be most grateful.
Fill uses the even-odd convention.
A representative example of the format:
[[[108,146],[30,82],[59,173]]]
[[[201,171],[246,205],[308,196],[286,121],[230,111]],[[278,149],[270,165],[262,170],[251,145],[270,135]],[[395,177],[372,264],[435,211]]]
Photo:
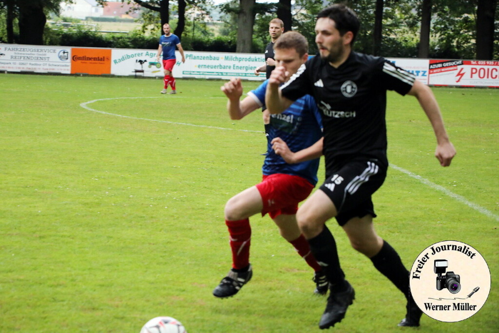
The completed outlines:
[[[47,15],[58,12],[61,1],[1,0],[0,41],[42,44],[67,39],[45,26]],[[216,7],[223,13],[223,23],[215,29],[205,19],[215,8],[212,0],[121,1],[143,7],[141,32],[145,35],[158,36],[161,23],[170,22],[174,33],[183,37],[186,49],[233,50],[237,45],[240,52],[257,53],[269,40],[268,22],[274,17],[281,17],[285,24],[291,17],[291,29],[301,32],[309,41],[310,53],[316,53],[315,16],[324,6],[322,0],[295,0],[292,7],[289,0],[231,0]],[[346,2],[359,15],[362,24],[354,45],[358,51],[389,57],[499,58],[498,0],[333,2]],[[428,8],[431,11],[425,20],[423,13],[428,13]],[[96,33],[87,32],[87,39],[92,40]],[[94,42],[93,46],[102,44],[96,39]],[[123,43],[130,45],[129,41]]]

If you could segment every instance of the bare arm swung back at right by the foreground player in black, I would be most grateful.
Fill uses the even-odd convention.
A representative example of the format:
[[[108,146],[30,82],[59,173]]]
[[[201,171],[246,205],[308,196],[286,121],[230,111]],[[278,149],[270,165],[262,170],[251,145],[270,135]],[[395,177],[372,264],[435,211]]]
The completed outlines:
[[[440,161],[440,165],[449,166],[451,160],[456,155],[456,149],[449,140],[447,131],[445,130],[444,120],[440,113],[437,99],[429,86],[416,80],[408,94],[415,96],[421,107],[426,113],[428,119],[433,127],[435,136],[437,137],[437,148],[435,150],[435,157]]]

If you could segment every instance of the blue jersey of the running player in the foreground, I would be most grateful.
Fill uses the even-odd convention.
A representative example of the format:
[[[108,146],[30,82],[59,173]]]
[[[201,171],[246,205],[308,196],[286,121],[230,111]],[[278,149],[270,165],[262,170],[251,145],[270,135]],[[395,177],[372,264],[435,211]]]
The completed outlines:
[[[265,102],[265,90],[268,80],[256,89],[251,90],[251,96],[260,106]],[[322,122],[315,100],[310,95],[295,100],[284,112],[270,115],[268,130],[267,156],[263,162],[262,172],[265,175],[285,173],[301,176],[313,185],[317,183],[319,158],[300,163],[288,164],[272,149],[270,141],[274,137],[283,139],[291,151],[307,148],[322,137]]]

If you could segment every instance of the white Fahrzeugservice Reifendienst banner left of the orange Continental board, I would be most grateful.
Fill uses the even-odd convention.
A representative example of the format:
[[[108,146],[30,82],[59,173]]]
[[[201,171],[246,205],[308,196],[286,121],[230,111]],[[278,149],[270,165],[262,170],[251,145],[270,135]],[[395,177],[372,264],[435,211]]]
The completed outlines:
[[[71,47],[0,44],[0,70],[71,73]]]

